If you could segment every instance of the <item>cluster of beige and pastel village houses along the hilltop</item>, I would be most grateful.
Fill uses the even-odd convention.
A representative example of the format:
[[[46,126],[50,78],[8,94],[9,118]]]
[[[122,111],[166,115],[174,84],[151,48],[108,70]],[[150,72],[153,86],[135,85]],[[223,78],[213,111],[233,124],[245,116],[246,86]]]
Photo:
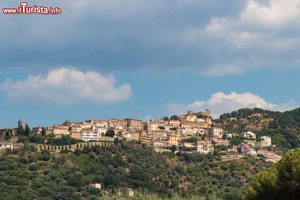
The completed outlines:
[[[208,117],[198,118],[198,114]],[[255,117],[264,116],[260,115],[261,113],[256,114]],[[18,125],[22,126],[25,130],[25,126],[22,125],[21,119],[19,119]],[[17,133],[18,129],[19,127],[11,129],[13,135]],[[199,152],[202,154],[213,153],[214,145],[228,145],[229,141],[227,139],[222,139],[223,133],[225,133],[227,137],[230,138],[236,136],[246,138],[244,139],[244,142],[238,144],[238,148],[241,149],[243,155],[257,156],[257,154],[263,154],[266,157],[269,157],[268,159],[272,162],[280,159],[280,156],[265,152],[265,150],[258,152],[254,150],[253,147],[262,148],[271,146],[271,138],[268,136],[262,136],[261,141],[259,141],[255,140],[256,135],[250,131],[244,133],[231,133],[220,127],[212,127],[209,109],[206,110],[206,112],[198,113],[188,111],[187,115],[177,115],[176,119],[164,120],[161,118],[154,121],[150,119],[146,122],[133,118],[112,118],[109,120],[88,119],[86,121],[74,122],[67,120],[62,124],[47,126],[46,135],[53,135],[55,138],[69,135],[72,138],[82,141],[101,141],[101,137],[105,136],[105,133],[110,129],[114,131],[114,137],[122,137],[127,140],[140,140],[140,142],[154,147],[155,151],[171,151],[172,145],[175,145],[184,146],[189,149],[192,148],[194,150],[192,152]],[[1,141],[4,140],[5,132],[7,130],[9,129],[0,129]],[[32,131],[40,134],[42,130],[42,126],[32,128]],[[197,137],[197,142],[192,143],[182,141],[182,139],[190,137]],[[0,143],[0,149],[13,147],[14,144],[10,142]],[[225,153],[224,155],[226,155],[226,157],[237,157],[238,155],[236,148],[228,149],[227,151],[223,151],[223,153]]]

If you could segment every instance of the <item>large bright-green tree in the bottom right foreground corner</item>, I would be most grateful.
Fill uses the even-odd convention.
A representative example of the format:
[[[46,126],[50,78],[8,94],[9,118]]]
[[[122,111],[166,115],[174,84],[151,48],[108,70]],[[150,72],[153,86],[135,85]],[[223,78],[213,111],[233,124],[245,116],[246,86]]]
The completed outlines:
[[[245,199],[299,199],[300,149],[285,154],[280,162],[257,175]]]

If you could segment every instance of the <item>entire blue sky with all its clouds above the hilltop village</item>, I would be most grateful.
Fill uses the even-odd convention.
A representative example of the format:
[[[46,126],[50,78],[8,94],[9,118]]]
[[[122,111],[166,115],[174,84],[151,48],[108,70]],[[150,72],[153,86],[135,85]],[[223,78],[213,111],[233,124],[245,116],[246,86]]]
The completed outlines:
[[[300,1],[28,4],[62,13],[0,13],[0,128],[300,107]]]

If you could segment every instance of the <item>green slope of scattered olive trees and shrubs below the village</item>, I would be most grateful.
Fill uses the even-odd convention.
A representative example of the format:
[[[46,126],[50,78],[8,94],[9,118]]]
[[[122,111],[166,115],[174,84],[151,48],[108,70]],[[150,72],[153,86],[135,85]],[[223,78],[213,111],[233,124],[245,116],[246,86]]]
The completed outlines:
[[[222,198],[242,199],[245,185],[272,165],[262,158],[222,162],[211,154],[160,154],[144,144],[122,141],[85,146],[77,156],[68,150],[50,154],[46,149],[32,151],[33,146],[25,149],[0,158],[0,199],[24,199],[24,194],[29,199],[85,199],[99,192],[85,190],[91,183],[100,183],[102,193],[132,187],[167,197],[173,192],[215,192]]]

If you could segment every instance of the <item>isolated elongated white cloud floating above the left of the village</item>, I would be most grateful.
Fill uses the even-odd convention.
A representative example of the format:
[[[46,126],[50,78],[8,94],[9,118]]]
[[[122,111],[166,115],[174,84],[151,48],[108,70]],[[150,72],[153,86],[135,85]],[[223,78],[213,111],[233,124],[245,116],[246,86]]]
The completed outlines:
[[[7,79],[0,91],[13,103],[52,103],[69,106],[76,103],[114,103],[129,99],[131,86],[117,85],[112,74],[82,72],[76,69],[58,68],[49,70],[46,76],[29,75],[13,82]]]

